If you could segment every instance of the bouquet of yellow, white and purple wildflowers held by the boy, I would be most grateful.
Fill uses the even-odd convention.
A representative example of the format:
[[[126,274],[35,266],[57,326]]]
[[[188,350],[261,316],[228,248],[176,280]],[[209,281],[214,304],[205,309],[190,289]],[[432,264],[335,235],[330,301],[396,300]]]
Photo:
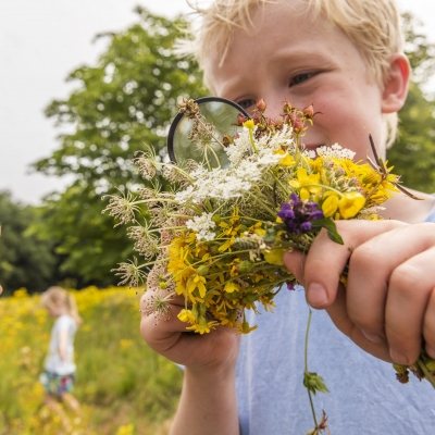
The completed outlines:
[[[136,156],[148,184],[109,197],[105,211],[129,226],[142,259],[120,265],[121,284],[146,281],[154,294],[147,309],[162,315],[171,295],[182,295],[178,318],[188,331],[206,334],[223,325],[249,333],[256,325],[246,321],[246,310],[273,308],[279,288],[296,284],[283,265],[285,251],[308,251],[322,228],[343,243],[334,221],[377,220],[380,206],[400,188],[378,159],[356,162],[339,145],[304,149],[312,107],[286,103],[282,119],[270,120],[260,100],[252,117],[235,120],[236,135],[216,134],[194,100],[179,110],[191,120],[189,140],[202,159],[163,162],[151,149]],[[157,175],[170,190],[154,182]],[[422,361],[397,366],[401,380],[408,369],[432,378],[435,366],[424,355]]]

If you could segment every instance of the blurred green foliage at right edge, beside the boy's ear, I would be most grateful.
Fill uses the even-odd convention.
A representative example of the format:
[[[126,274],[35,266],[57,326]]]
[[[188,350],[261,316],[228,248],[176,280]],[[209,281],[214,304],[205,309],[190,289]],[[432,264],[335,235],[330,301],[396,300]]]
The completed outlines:
[[[435,45],[419,32],[421,23],[403,16],[407,54],[413,76],[407,103],[400,111],[399,138],[388,151],[388,161],[406,186],[435,191],[435,101],[423,91],[435,71]]]

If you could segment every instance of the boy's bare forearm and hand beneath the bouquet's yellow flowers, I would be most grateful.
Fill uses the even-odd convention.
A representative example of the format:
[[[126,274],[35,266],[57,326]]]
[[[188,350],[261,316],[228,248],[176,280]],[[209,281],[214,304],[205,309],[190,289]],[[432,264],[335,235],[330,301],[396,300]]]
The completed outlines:
[[[152,291],[147,291],[141,307],[149,307],[152,298]],[[186,324],[176,316],[183,308],[184,301],[174,299],[169,316],[141,310],[140,331],[148,345],[185,366],[171,435],[237,435],[235,363],[239,336],[224,327],[203,335],[186,332]]]

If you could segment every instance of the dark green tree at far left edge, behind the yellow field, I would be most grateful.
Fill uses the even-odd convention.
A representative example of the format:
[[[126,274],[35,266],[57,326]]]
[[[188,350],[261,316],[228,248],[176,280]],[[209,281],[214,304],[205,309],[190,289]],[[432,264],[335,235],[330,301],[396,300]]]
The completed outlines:
[[[50,239],[30,234],[35,210],[14,202],[11,195],[0,191],[0,285],[7,293],[18,287],[44,290],[54,273],[55,257]]]

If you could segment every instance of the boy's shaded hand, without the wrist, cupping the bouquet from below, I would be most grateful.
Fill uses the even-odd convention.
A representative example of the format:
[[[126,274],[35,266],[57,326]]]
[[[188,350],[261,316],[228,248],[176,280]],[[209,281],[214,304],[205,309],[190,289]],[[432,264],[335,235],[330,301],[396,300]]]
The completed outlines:
[[[177,319],[178,312],[185,308],[184,299],[174,296],[167,315],[159,315],[144,309],[150,306],[152,296],[152,291],[147,291],[140,301],[140,332],[151,348],[194,371],[233,370],[239,338],[235,331],[221,327],[203,335],[187,332],[187,324]]]

